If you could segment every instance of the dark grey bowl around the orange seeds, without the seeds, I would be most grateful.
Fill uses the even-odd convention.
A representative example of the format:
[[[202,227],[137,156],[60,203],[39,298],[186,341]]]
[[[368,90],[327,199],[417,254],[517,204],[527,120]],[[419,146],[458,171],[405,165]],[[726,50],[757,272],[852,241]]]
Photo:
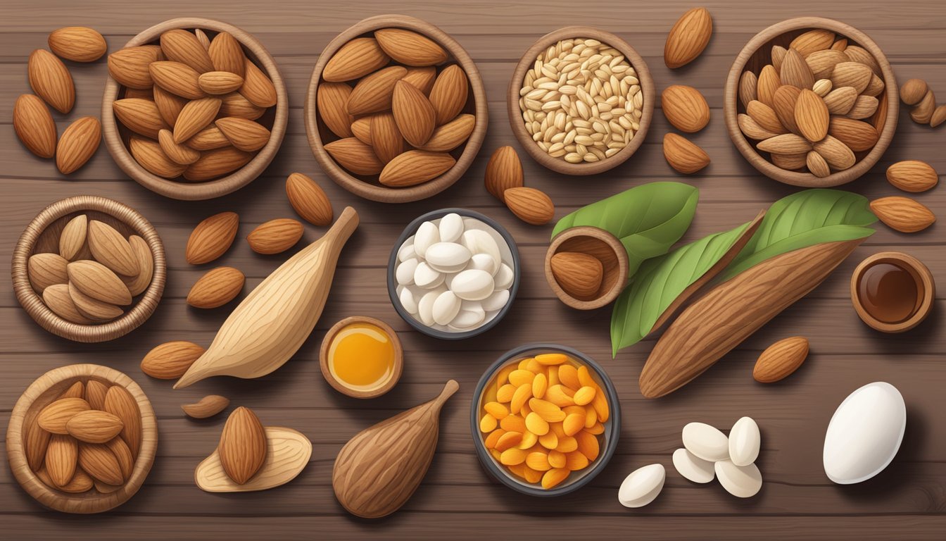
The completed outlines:
[[[482,401],[483,388],[492,381],[500,368],[507,365],[513,359],[551,352],[566,353],[587,365],[588,369],[590,369],[591,377],[606,391],[607,406],[611,411],[607,421],[604,422],[604,445],[598,460],[595,460],[587,468],[578,472],[577,475],[569,475],[569,478],[562,484],[546,490],[539,485],[527,483],[510,474],[489,454],[489,451],[483,444],[482,432],[480,431],[480,402]],[[601,473],[611,460],[611,457],[614,456],[614,451],[618,448],[618,438],[621,436],[621,402],[618,400],[618,390],[614,388],[614,384],[611,383],[611,378],[607,376],[607,373],[601,368],[601,365],[594,362],[594,360],[585,353],[558,344],[542,342],[524,344],[503,353],[495,363],[483,372],[480,382],[477,383],[476,389],[473,391],[473,401],[470,404],[470,433],[473,434],[473,445],[476,447],[476,455],[480,458],[483,468],[485,468],[491,476],[499,480],[500,483],[513,489],[517,493],[529,496],[564,496],[575,492],[591,482],[591,479]]]

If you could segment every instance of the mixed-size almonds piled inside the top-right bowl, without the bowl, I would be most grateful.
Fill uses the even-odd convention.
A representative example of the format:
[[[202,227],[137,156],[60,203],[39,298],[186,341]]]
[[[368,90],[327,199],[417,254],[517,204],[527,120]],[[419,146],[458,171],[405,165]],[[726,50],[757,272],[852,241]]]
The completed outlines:
[[[867,49],[831,30],[809,30],[787,49],[773,46],[772,63],[758,76],[743,73],[739,127],[781,169],[825,177],[849,169],[855,152],[877,143],[871,117],[884,90]]]

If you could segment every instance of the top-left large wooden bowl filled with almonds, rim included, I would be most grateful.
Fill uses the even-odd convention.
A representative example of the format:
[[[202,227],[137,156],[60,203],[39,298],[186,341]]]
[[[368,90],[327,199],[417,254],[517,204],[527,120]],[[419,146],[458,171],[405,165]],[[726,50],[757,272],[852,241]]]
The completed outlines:
[[[212,199],[272,162],[289,95],[253,35],[198,17],[144,30],[109,55],[105,143],[118,167],[166,197]]]

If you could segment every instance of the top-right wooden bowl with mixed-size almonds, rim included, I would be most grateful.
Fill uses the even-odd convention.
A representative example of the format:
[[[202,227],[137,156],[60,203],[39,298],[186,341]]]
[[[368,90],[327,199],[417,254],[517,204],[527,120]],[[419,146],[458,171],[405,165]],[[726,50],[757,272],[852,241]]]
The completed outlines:
[[[897,80],[864,32],[799,17],[749,40],[726,81],[729,138],[766,176],[793,186],[848,183],[897,130]]]

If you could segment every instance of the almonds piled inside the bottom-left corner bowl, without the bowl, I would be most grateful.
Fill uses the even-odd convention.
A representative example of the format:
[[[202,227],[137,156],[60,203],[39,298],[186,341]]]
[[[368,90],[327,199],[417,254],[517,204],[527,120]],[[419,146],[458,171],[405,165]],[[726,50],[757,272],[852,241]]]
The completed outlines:
[[[126,388],[77,381],[26,424],[24,447],[29,468],[50,488],[110,494],[131,478],[141,412]]]

